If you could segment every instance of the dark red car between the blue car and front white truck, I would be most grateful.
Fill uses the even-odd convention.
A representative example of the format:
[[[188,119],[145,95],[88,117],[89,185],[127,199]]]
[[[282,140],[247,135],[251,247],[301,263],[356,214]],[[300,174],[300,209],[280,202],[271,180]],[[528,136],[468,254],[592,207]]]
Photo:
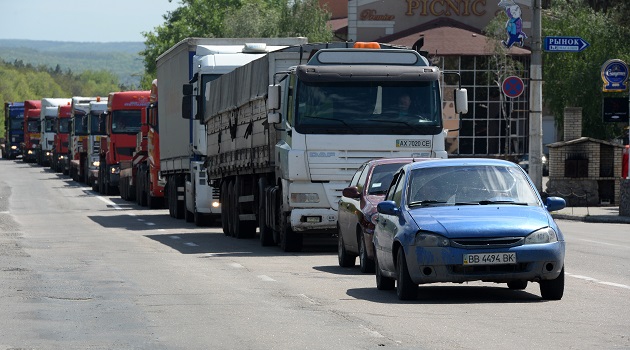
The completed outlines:
[[[383,201],[394,173],[405,164],[424,158],[383,158],[363,163],[339,199],[339,266],[354,266],[359,257],[361,272],[374,272],[373,216]]]

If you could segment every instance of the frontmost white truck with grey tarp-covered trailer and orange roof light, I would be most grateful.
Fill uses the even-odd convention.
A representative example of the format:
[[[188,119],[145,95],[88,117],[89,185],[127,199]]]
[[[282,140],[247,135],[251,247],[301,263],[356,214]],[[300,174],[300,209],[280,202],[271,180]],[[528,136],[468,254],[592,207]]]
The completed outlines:
[[[208,181],[227,235],[299,251],[337,233],[337,203],[368,159],[446,158],[442,72],[416,51],[305,44],[271,52],[209,86]],[[409,110],[399,110],[408,94]],[[456,89],[456,111],[467,110]]]

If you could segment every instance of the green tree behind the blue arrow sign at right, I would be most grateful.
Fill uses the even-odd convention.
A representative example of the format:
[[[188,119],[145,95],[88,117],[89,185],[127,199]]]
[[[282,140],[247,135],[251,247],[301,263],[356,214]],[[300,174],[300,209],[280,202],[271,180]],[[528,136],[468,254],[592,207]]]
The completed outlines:
[[[623,126],[602,122],[601,67],[609,59],[629,62],[628,29],[616,25],[605,12],[587,4],[554,0],[543,16],[543,36],[579,36],[590,43],[582,52],[543,53],[543,100],[559,126],[565,107],[582,107],[584,136],[611,139]],[[614,96],[606,93],[606,96]]]

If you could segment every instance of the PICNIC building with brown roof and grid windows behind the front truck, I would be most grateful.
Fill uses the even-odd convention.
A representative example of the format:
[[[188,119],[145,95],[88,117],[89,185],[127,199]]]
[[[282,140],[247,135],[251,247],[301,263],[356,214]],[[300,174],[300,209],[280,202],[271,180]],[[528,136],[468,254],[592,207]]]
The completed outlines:
[[[458,72],[468,89],[468,113],[454,113],[457,80],[445,75],[444,125],[449,156],[516,159],[528,153],[529,0],[322,1],[340,40],[379,41],[425,51],[433,65]],[[347,4],[347,7],[346,7]],[[502,40],[484,33],[492,28]],[[490,26],[490,27],[489,27]],[[519,77],[522,93],[503,83]]]

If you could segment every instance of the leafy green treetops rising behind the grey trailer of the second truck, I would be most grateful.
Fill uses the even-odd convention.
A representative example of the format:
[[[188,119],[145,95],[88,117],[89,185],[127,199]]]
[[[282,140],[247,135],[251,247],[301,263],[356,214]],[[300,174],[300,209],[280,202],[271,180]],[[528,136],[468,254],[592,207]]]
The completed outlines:
[[[155,76],[156,59],[188,37],[241,38],[304,36],[311,42],[329,41],[329,12],[317,0],[182,0],[182,5],[164,15],[165,23],[145,37],[145,77]]]

